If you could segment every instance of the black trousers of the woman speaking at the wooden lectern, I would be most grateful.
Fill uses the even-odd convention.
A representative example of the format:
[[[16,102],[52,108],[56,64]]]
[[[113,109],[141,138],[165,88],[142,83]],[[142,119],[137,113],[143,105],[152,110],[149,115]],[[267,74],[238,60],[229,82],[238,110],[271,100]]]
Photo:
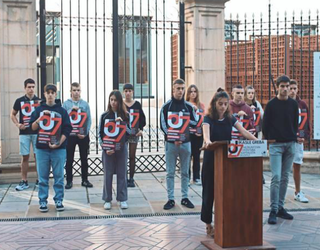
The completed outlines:
[[[202,164],[202,207],[201,220],[210,224],[212,222],[212,209],[214,202],[214,152],[204,151]]]

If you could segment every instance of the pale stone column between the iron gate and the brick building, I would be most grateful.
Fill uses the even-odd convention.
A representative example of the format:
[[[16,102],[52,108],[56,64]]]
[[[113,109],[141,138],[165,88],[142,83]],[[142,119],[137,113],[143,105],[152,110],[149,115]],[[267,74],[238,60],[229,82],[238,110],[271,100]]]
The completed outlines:
[[[224,8],[229,0],[185,0],[187,85],[196,84],[206,107],[225,88]]]

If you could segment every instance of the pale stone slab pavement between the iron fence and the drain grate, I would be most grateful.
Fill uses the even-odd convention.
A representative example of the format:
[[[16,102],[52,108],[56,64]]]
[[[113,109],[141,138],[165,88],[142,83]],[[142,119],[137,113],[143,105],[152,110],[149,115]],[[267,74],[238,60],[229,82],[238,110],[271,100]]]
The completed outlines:
[[[270,173],[265,172],[266,184],[264,185],[264,210],[269,209]],[[17,183],[0,185],[0,218],[34,218],[34,217],[61,217],[61,216],[96,216],[96,215],[125,215],[125,214],[157,214],[167,213],[163,205],[167,201],[165,173],[136,174],[136,187],[129,188],[129,209],[121,210],[116,203],[114,195],[113,207],[110,211],[103,209],[102,186],[103,177],[91,177],[93,188],[84,188],[80,185],[80,178],[74,179],[74,187],[65,191],[64,205],[66,210],[58,213],[53,202],[53,189],[50,180],[49,212],[42,214],[38,211],[38,189],[34,183],[30,188],[21,192],[15,191]],[[114,181],[114,192],[115,192]],[[302,204],[294,201],[294,184],[292,176],[288,188],[286,208],[291,210],[320,209],[320,176],[303,175],[302,190],[306,193],[310,202]],[[177,175],[175,195],[177,206],[170,213],[200,212],[201,186],[191,185],[189,190],[190,200],[195,204],[195,209],[181,206],[180,178]]]

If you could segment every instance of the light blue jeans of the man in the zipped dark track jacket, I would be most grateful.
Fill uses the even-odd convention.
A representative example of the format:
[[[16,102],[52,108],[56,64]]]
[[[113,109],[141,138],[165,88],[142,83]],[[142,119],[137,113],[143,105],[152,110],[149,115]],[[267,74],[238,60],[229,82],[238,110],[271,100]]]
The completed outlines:
[[[174,200],[174,175],[178,156],[181,171],[181,194],[182,199],[184,199],[188,198],[189,164],[191,157],[190,142],[183,143],[180,146],[166,142],[167,192],[169,200]]]

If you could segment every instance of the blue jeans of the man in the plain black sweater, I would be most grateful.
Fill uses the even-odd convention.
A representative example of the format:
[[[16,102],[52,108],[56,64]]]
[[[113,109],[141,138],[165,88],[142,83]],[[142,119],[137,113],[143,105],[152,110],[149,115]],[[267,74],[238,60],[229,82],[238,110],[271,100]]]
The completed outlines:
[[[278,211],[280,207],[284,206],[294,153],[295,142],[270,144],[269,154],[272,173],[270,207],[272,210]]]

